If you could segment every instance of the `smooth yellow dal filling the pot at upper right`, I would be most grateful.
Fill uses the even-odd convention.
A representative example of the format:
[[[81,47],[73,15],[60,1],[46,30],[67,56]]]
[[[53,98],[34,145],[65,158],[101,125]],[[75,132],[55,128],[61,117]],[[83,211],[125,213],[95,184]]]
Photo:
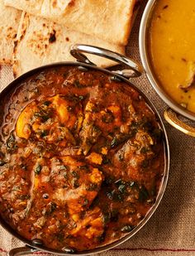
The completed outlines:
[[[195,0],[159,0],[149,34],[150,59],[160,84],[178,104],[195,113]],[[195,84],[195,83],[194,83]]]

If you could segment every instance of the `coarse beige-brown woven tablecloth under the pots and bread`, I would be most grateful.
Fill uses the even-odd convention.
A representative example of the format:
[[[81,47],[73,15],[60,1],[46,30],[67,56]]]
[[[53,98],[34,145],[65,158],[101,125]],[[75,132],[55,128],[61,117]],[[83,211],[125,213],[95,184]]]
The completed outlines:
[[[140,8],[126,49],[126,55],[138,61],[138,31],[143,9],[144,5]],[[12,79],[12,70],[2,67],[0,89]],[[148,95],[162,115],[166,105],[155,94],[145,75],[134,83]],[[164,198],[143,229],[116,249],[99,254],[101,256],[195,255],[195,138],[178,132],[165,121],[164,124],[171,152],[169,183]],[[0,255],[5,256],[10,249],[22,245],[0,227]]]

